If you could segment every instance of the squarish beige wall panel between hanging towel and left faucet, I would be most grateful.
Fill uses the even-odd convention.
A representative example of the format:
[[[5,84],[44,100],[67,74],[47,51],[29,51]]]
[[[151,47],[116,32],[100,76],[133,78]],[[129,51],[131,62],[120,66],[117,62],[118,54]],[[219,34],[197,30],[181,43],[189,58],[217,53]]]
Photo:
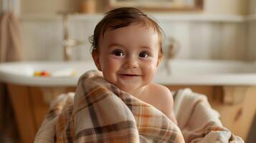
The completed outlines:
[[[62,59],[62,23],[57,21],[22,21],[24,60]]]

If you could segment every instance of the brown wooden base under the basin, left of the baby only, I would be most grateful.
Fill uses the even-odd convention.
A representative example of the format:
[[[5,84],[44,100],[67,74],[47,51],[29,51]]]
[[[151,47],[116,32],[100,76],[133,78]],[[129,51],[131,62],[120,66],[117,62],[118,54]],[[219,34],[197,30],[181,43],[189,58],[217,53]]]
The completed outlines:
[[[49,102],[44,99],[43,90],[48,94],[58,94],[55,89],[62,92],[75,92],[75,87],[25,87],[8,84],[9,97],[14,109],[14,116],[22,143],[34,142],[35,134],[42,124],[49,109]]]

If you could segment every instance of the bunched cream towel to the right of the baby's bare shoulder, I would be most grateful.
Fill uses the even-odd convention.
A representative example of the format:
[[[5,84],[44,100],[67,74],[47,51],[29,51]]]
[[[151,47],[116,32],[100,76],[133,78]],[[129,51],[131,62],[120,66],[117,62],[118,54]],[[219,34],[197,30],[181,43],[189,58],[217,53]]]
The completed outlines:
[[[222,126],[219,113],[211,108],[207,97],[191,89],[174,93],[174,113],[185,142],[244,142]]]

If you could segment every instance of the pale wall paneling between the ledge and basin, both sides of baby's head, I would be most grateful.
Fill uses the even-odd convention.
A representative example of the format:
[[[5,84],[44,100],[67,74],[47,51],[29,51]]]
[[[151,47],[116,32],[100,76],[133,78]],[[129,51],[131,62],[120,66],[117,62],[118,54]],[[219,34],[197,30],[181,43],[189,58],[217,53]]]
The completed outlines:
[[[247,26],[242,22],[158,22],[166,34],[164,48],[169,45],[170,38],[179,42],[176,59],[247,59]],[[88,38],[97,23],[98,19],[70,20],[70,37],[85,43],[72,49],[73,60],[92,59]],[[63,59],[61,20],[22,21],[22,35],[25,60]]]

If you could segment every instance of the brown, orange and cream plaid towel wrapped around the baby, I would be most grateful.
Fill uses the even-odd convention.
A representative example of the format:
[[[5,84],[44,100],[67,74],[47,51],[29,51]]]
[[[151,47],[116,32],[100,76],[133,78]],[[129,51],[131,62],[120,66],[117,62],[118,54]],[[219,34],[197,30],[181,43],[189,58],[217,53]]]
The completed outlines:
[[[80,77],[74,94],[58,97],[34,142],[184,142],[158,109],[120,91],[98,71]]]

